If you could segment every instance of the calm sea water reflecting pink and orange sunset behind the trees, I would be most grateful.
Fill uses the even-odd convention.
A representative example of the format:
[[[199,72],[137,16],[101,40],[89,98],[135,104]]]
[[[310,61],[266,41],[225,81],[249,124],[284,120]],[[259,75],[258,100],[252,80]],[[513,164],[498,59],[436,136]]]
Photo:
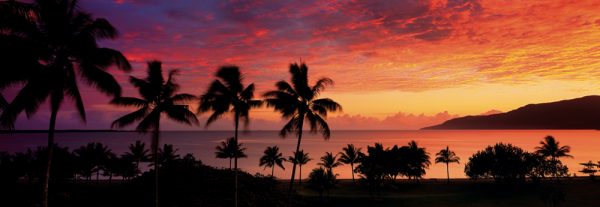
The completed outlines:
[[[173,144],[179,149],[181,156],[186,153],[193,153],[196,158],[203,163],[217,166],[229,167],[229,159],[216,159],[215,147],[220,142],[234,135],[233,131],[167,131],[161,132],[161,146],[164,143]],[[570,145],[571,155],[574,159],[562,158],[564,164],[569,167],[571,173],[577,173],[582,169],[579,163],[592,160],[600,160],[600,132],[599,131],[571,131],[571,130],[482,130],[482,131],[332,131],[331,139],[323,140],[320,135],[311,135],[303,133],[301,149],[309,153],[309,157],[314,160],[302,167],[302,178],[306,178],[311,169],[318,167],[319,158],[325,152],[338,153],[346,144],[353,143],[357,147],[362,147],[366,153],[367,145],[373,146],[374,143],[383,143],[384,147],[393,147],[394,145],[407,145],[409,141],[415,140],[419,146],[426,147],[427,152],[432,157],[432,165],[427,170],[426,178],[445,178],[446,166],[443,163],[433,164],[435,154],[446,145],[455,151],[461,158],[460,164],[450,165],[450,177],[464,178],[464,164],[469,157],[478,150],[484,149],[488,145],[497,142],[512,143],[527,151],[533,151],[534,147],[539,146],[539,142],[548,135],[554,136],[561,145]],[[88,142],[102,142],[108,145],[112,152],[123,154],[128,150],[127,146],[135,143],[136,140],[142,140],[150,146],[150,134],[139,134],[136,132],[79,132],[79,133],[57,133],[56,142],[60,146],[68,146],[70,150],[79,148]],[[297,137],[289,136],[282,139],[278,136],[278,131],[252,131],[240,133],[240,142],[248,158],[240,159],[241,169],[252,174],[262,173],[270,174],[271,169],[266,170],[259,167],[259,159],[267,146],[279,146],[280,151],[287,158],[292,155],[296,149]],[[45,133],[18,133],[18,134],[0,134],[0,151],[15,153],[25,151],[27,148],[35,148],[39,145],[45,145],[47,134]],[[291,177],[292,164],[285,163],[285,170],[276,168],[275,176],[282,179]],[[148,169],[147,167],[145,169]],[[350,166],[340,166],[334,168],[334,172],[340,174],[339,178],[351,178]],[[297,173],[296,173],[297,174]]]

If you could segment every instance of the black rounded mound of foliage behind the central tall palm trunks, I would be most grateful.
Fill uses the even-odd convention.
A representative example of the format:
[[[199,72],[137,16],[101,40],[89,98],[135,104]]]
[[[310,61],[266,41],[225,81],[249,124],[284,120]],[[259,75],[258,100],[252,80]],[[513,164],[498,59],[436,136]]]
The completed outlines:
[[[233,206],[231,196],[234,171],[217,169],[193,161],[189,155],[160,168],[161,206]],[[145,172],[127,183],[127,188],[139,201],[136,205],[152,205],[154,171]],[[279,181],[261,174],[238,172],[239,206],[285,206],[287,196],[279,189]],[[294,194],[294,205],[301,204],[301,197]]]

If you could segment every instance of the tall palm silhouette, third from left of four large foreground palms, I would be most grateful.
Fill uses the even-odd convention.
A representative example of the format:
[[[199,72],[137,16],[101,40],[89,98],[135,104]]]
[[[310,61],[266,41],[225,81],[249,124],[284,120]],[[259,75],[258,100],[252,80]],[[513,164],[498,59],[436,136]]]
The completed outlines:
[[[254,98],[254,84],[250,84],[244,89],[242,81],[244,77],[237,66],[222,66],[216,74],[217,79],[213,81],[208,91],[200,97],[200,106],[198,114],[213,111],[213,114],[206,121],[206,127],[226,113],[233,113],[235,122],[235,143],[238,143],[238,126],[240,119],[244,120],[244,126],[250,123],[248,112],[251,108],[262,106],[262,101],[252,100]],[[223,82],[221,82],[223,81]],[[235,187],[234,187],[234,206],[237,207],[237,155],[234,156]]]

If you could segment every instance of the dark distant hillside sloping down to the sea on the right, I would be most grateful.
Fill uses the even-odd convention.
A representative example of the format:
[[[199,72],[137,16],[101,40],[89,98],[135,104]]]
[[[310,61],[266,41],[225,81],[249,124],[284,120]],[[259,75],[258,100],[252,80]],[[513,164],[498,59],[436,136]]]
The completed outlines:
[[[600,96],[529,104],[506,113],[466,116],[421,130],[600,129]]]

